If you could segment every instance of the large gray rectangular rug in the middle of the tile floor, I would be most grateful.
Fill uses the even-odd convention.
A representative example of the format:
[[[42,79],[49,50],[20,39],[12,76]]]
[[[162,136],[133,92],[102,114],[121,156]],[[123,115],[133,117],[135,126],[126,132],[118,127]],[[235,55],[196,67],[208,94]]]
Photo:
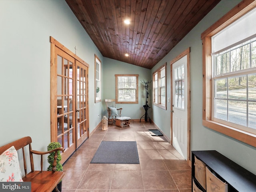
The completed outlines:
[[[136,141],[102,141],[90,163],[140,164]]]

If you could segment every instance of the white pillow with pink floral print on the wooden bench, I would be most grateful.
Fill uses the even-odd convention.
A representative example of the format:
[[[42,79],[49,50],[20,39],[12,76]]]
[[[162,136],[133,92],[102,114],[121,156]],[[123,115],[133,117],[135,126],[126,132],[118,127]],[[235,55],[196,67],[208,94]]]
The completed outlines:
[[[0,182],[22,182],[18,153],[14,146],[0,155]]]

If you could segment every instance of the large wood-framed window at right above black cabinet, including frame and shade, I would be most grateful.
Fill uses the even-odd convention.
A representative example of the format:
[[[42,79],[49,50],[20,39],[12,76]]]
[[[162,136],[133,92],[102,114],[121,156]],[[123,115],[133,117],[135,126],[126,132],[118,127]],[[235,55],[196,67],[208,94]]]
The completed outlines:
[[[202,33],[203,125],[256,146],[256,2]]]

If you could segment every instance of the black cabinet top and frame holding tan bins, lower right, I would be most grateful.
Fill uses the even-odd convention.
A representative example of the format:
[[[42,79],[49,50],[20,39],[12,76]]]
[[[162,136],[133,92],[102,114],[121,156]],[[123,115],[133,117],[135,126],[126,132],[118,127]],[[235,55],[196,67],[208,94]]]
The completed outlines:
[[[217,151],[192,151],[192,180],[194,179],[195,184],[203,192],[206,190],[195,178],[195,156],[204,162],[220,180],[228,184],[228,192],[256,192],[256,175]]]

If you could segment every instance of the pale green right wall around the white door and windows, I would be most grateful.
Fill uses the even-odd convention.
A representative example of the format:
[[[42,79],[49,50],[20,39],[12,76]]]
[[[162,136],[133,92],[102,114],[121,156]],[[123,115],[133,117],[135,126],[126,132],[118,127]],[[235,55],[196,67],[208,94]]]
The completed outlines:
[[[190,82],[191,82],[191,150],[217,150],[234,162],[256,174],[256,148],[238,140],[220,134],[202,126],[202,40],[201,34],[236,6],[240,0],[222,0],[207,14],[186,36],[174,47],[153,69],[154,72],[164,62],[167,62],[167,84],[170,85],[170,61],[188,47],[190,52]],[[170,97],[170,86],[167,87],[167,97]],[[170,136],[170,103],[167,110],[153,107],[153,119],[156,125]],[[165,121],[163,121],[163,118]]]

